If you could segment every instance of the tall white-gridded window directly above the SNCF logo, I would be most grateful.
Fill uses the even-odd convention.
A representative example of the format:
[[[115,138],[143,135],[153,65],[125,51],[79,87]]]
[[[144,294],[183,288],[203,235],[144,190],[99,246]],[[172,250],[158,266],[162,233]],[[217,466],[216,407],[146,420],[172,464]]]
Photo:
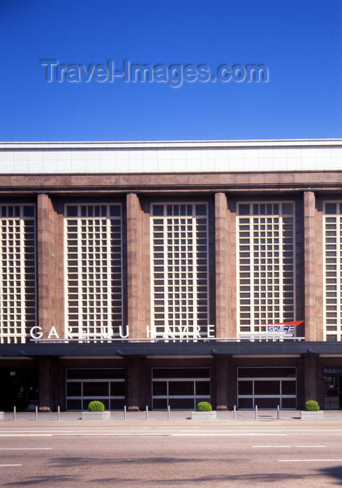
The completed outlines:
[[[295,320],[295,204],[238,204],[239,333]]]

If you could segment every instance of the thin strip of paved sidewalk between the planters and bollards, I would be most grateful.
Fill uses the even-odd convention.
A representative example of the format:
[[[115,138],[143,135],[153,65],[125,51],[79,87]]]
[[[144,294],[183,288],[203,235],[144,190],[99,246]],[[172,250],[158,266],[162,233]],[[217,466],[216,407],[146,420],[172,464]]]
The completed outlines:
[[[125,420],[123,411],[114,411],[110,415],[111,420]],[[127,412],[127,420],[190,420],[191,411],[170,411],[170,419],[168,418],[167,411],[139,411],[139,412]],[[217,420],[299,420],[300,411],[288,411],[282,410],[279,412],[279,418],[277,418],[277,411],[274,410],[258,410],[258,418],[256,418],[255,411],[236,411],[235,419],[233,411],[218,411]],[[3,421],[13,422],[13,412],[5,412]],[[60,412],[59,418],[57,412],[17,412],[15,420],[18,422],[25,421],[77,421],[81,420],[81,412]],[[323,422],[325,420],[341,420],[342,410],[325,410],[323,413]]]

